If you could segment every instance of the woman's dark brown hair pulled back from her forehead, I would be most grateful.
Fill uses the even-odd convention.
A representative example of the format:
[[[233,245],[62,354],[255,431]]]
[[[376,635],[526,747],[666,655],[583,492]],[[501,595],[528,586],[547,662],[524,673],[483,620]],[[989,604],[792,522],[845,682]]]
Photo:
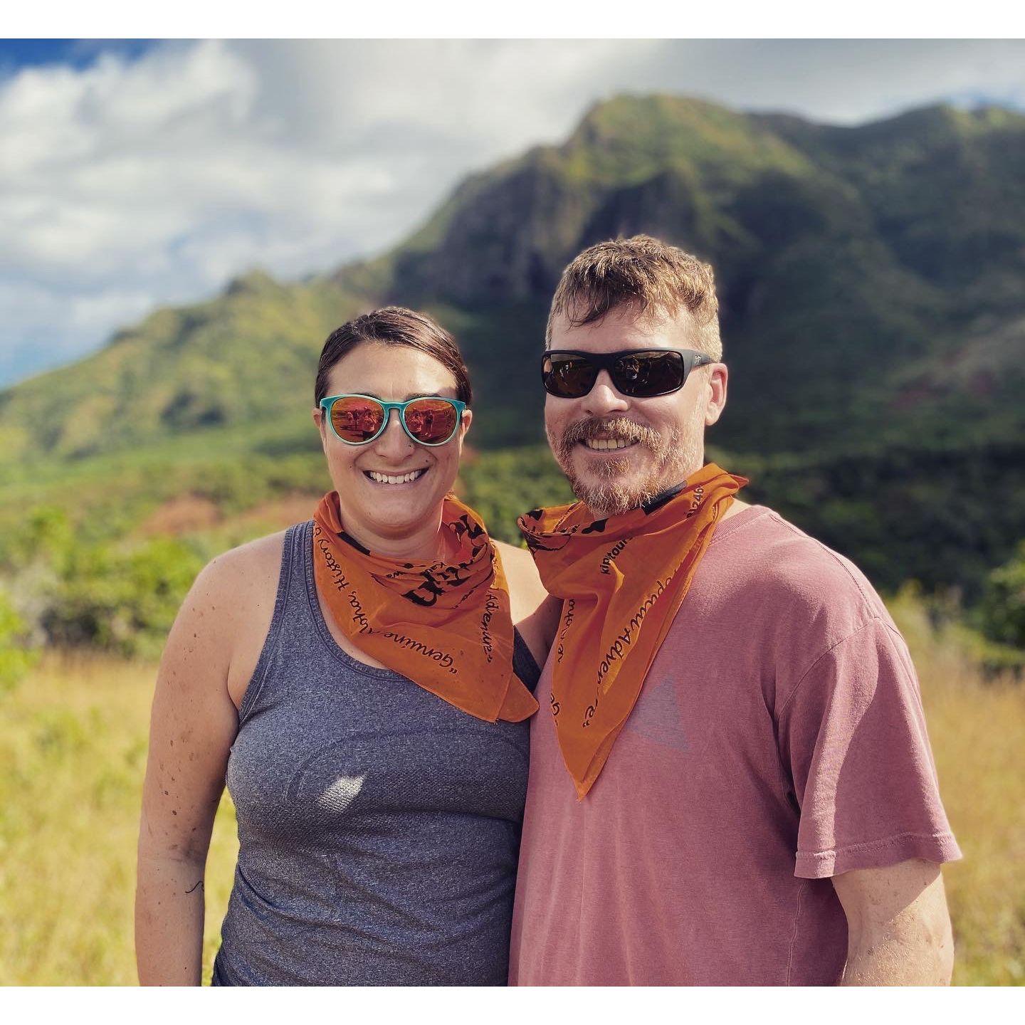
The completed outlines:
[[[317,365],[314,403],[320,405],[327,395],[327,379],[331,368],[357,345],[376,341],[382,345],[408,345],[433,356],[455,378],[456,398],[470,405],[473,394],[469,373],[455,339],[429,317],[404,306],[384,306],[351,320],[335,328],[324,342]]]

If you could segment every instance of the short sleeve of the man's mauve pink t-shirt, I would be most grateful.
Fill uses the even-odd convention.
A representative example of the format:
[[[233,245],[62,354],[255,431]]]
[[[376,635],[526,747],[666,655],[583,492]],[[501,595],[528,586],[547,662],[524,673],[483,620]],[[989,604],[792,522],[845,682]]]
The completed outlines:
[[[818,658],[785,699],[778,726],[801,813],[795,875],[960,857],[914,667],[886,621],[870,619]]]

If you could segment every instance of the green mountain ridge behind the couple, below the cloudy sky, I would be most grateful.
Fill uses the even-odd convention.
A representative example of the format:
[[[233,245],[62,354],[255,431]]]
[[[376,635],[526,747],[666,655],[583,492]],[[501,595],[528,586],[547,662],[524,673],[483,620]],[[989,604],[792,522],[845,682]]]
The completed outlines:
[[[293,284],[252,272],[0,393],[0,485],[246,424],[264,453],[310,451],[324,338],[385,302],[459,339],[478,446],[535,445],[563,266],[647,232],[715,268],[731,378],[710,441],[753,496],[884,577],[971,589],[1025,515],[1023,170],[1025,116],[1001,108],[836,127],[619,96],[469,175],[379,258]]]

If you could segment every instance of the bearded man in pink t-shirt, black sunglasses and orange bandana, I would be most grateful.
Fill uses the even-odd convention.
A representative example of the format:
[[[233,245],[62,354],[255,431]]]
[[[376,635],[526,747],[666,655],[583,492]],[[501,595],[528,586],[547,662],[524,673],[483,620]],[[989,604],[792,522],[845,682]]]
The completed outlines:
[[[704,464],[721,361],[694,257],[638,236],[566,269],[545,427],[579,502],[521,518],[563,614],[510,982],[946,984],[960,852],[907,649],[848,560]]]

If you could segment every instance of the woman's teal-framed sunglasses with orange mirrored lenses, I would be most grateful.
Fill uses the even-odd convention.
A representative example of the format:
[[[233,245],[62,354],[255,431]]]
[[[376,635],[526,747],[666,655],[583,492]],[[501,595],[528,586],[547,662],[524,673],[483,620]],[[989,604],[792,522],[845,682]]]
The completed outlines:
[[[444,445],[462,422],[466,403],[441,396],[381,402],[372,395],[332,395],[321,399],[320,407],[335,437],[346,445],[367,445],[379,437],[393,409],[399,411],[402,429],[417,445]]]

